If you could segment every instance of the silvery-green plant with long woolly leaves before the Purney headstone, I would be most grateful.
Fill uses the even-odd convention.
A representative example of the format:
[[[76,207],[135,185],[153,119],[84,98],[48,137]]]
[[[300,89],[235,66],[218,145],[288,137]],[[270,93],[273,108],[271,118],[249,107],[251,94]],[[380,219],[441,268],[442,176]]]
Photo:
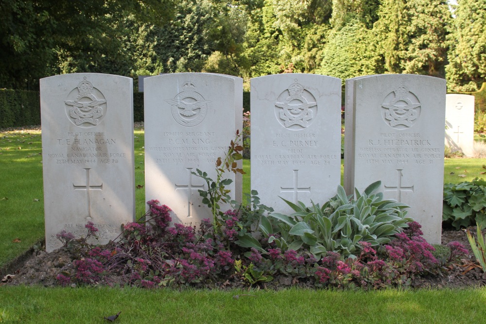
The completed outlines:
[[[406,217],[407,205],[383,200],[382,193],[373,193],[380,185],[377,181],[362,194],[355,190],[356,199],[338,186],[337,195],[322,206],[313,202],[310,207],[302,202],[295,205],[284,199],[295,213],[271,213],[261,219],[260,229],[270,244],[283,251],[297,251],[305,245],[317,259],[329,251],[354,256],[360,249],[359,242],[371,246],[388,243],[412,221]]]

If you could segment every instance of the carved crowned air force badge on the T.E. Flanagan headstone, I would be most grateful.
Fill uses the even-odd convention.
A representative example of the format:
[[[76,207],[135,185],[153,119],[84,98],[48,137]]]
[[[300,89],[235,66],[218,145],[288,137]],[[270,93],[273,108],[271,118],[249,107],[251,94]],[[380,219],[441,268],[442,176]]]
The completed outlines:
[[[77,88],[78,95],[76,98],[73,101],[66,100],[64,102],[69,106],[69,117],[77,126],[83,123],[98,125],[99,119],[103,117],[102,106],[106,103],[106,100],[94,95],[95,88],[91,82],[86,80],[86,77],[78,84]],[[100,95],[103,96],[101,92]]]

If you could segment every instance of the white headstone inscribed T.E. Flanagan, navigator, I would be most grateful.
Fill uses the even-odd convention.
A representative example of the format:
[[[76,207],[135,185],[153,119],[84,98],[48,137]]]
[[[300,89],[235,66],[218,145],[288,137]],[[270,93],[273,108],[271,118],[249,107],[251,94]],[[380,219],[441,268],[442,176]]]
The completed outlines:
[[[99,243],[135,218],[133,81],[77,73],[40,80],[46,250],[61,230]]]

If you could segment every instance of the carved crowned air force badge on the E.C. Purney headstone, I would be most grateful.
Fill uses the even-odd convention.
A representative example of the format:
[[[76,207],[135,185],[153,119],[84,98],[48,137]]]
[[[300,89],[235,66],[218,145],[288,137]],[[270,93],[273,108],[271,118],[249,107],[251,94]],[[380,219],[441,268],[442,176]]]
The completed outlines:
[[[275,105],[282,108],[279,117],[283,120],[285,127],[300,125],[306,128],[309,121],[313,118],[310,108],[317,106],[316,102],[308,102],[303,96],[304,87],[297,82],[288,87],[289,96],[285,102],[275,102]]]

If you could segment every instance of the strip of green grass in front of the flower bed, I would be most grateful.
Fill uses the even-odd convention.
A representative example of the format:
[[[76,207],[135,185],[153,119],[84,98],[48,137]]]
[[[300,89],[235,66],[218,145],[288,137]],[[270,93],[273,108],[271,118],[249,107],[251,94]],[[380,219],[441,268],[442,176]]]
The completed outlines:
[[[0,322],[483,323],[486,289],[332,291],[1,287]],[[248,296],[249,294],[251,296]],[[238,296],[239,298],[236,298]]]

